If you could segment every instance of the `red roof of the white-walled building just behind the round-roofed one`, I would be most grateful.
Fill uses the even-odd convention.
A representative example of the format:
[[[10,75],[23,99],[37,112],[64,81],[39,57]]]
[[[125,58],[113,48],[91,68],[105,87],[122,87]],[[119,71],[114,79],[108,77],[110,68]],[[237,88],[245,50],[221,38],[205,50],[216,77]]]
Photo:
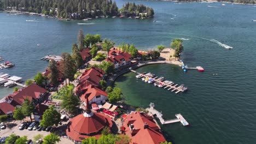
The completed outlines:
[[[91,101],[98,95],[105,95],[106,97],[108,96],[107,92],[103,91],[102,89],[97,88],[94,85],[89,85],[82,90],[80,99],[86,103],[86,97],[88,97],[88,100]]]

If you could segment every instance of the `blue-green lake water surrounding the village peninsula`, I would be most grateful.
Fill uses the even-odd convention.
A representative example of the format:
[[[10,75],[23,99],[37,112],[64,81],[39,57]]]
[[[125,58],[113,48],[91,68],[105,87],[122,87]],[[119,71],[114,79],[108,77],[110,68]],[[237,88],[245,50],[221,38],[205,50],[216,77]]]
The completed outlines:
[[[118,7],[125,2],[117,1]],[[169,46],[172,39],[183,38],[183,61],[190,67],[200,65],[205,72],[183,73],[181,68],[168,64],[149,65],[137,71],[151,71],[175,83],[184,83],[189,91],[174,94],[127,73],[115,82],[123,89],[126,103],[147,107],[153,102],[165,119],[182,113],[189,127],[181,123],[162,127],[175,143],[255,143],[256,22],[252,20],[256,20],[256,7],[134,2],[153,7],[154,19],[97,19],[86,22],[89,25],[77,25],[82,21],[0,13],[0,56],[15,63],[15,67],[0,73],[21,76],[24,80],[33,78],[48,65],[40,58],[71,52],[80,28],[85,34],[98,33],[116,44],[124,41],[142,50]],[[233,49],[225,49],[218,41]],[[0,87],[0,98],[12,91]]]

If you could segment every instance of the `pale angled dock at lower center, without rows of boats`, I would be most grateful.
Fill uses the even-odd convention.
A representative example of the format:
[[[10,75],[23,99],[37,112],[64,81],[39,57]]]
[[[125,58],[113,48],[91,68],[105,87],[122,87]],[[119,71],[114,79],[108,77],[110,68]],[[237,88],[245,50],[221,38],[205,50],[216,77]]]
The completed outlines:
[[[158,119],[160,120],[161,124],[170,124],[170,123],[181,122],[183,126],[189,125],[189,123],[188,123],[187,120],[181,115],[181,113],[178,113],[178,114],[175,115],[177,118],[165,120],[164,118],[162,118],[162,113],[159,112],[158,110],[155,110],[155,109],[154,109],[154,103],[150,103],[150,108],[147,108],[147,110],[148,110],[149,113],[151,113],[153,116],[155,115],[156,117],[158,117]]]

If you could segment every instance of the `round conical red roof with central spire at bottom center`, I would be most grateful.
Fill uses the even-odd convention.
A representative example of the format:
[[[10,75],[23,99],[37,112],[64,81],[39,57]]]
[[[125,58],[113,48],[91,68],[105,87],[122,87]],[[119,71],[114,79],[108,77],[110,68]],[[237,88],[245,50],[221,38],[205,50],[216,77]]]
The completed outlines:
[[[90,136],[95,136],[98,139],[101,136],[99,132],[104,127],[112,128],[112,125],[110,117],[103,113],[93,113],[91,117],[85,117],[84,114],[80,114],[71,119],[66,133],[75,141],[82,141],[82,139]]]

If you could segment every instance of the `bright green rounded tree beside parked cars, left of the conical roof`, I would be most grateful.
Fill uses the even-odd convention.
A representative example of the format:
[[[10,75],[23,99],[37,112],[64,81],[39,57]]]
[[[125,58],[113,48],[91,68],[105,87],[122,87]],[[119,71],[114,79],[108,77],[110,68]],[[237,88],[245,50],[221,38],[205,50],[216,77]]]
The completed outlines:
[[[44,112],[43,119],[40,122],[40,125],[43,127],[57,126],[60,122],[60,113],[55,110],[55,106],[51,105],[48,110]]]

